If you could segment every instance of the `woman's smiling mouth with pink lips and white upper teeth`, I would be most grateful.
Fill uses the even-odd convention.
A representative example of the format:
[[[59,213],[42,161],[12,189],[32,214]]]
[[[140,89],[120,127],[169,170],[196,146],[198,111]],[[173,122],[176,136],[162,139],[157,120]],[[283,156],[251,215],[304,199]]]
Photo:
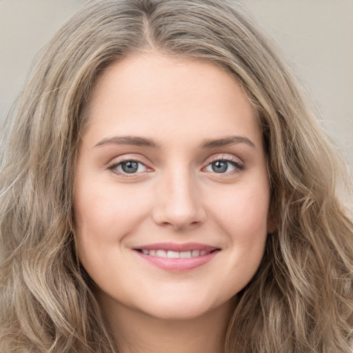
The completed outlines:
[[[184,272],[209,263],[221,249],[199,243],[155,243],[133,249],[143,260],[163,270]]]

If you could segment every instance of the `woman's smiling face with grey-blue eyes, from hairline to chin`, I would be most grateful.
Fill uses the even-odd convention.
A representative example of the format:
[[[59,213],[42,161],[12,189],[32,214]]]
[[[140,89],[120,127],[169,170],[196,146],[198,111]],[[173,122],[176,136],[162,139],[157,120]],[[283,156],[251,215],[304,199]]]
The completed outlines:
[[[94,85],[77,161],[79,258],[106,303],[201,316],[252,279],[270,227],[261,131],[211,63],[133,56]]]

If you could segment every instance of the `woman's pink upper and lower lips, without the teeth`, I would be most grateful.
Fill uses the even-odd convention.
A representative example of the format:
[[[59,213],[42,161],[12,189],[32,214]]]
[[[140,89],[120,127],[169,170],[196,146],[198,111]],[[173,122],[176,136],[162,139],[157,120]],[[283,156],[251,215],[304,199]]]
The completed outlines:
[[[199,268],[200,266],[209,263],[212,261],[212,259],[214,259],[214,256],[216,256],[216,254],[218,254],[221,249],[201,243],[153,243],[137,246],[133,250],[138,256],[141,257],[141,259],[147,261],[151,265],[157,266],[158,268],[172,272],[185,272],[188,270],[193,270],[194,268]],[[165,250],[175,252],[205,250],[210,251],[210,253],[191,258],[170,259],[166,257],[145,255],[141,252],[141,250]]]

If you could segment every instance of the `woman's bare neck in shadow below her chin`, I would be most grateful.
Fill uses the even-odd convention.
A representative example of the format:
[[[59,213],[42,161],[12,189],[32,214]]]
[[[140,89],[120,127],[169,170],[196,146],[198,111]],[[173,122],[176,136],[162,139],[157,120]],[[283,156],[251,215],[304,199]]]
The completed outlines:
[[[119,353],[222,353],[234,307],[227,302],[202,316],[173,321],[112,303],[111,298],[101,303]]]

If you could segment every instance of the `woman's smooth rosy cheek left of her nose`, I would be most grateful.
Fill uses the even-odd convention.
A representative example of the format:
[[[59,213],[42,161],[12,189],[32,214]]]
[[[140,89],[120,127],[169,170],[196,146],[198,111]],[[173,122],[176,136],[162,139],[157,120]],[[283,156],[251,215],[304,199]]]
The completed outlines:
[[[141,190],[140,190],[141,191]],[[105,248],[121,241],[149,213],[138,188],[117,188],[112,180],[83,182],[74,196],[74,220],[80,248]]]

